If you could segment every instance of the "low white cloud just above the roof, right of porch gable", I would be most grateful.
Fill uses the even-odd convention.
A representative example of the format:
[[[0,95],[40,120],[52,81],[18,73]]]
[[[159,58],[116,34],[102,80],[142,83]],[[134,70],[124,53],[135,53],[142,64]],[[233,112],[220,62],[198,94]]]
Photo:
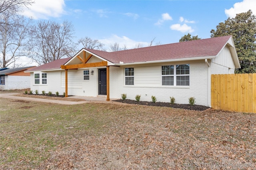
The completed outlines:
[[[120,48],[124,47],[125,45],[127,49],[133,49],[138,43],[142,44],[144,47],[148,46],[147,42],[138,42],[126,36],[119,37],[118,35],[111,35],[111,37],[108,37],[106,39],[99,39],[99,41],[105,45],[105,48],[109,48],[110,45],[114,43],[118,43]]]

